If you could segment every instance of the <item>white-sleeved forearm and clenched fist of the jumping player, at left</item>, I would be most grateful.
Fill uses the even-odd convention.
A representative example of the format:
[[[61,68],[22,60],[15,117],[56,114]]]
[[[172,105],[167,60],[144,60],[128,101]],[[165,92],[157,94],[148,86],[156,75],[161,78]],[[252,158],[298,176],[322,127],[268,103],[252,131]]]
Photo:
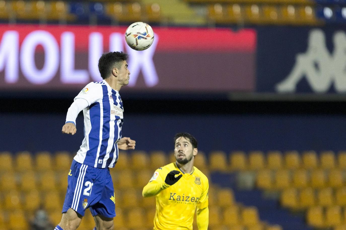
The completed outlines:
[[[80,111],[84,108],[88,107],[89,103],[85,99],[77,98],[70,106],[69,110],[67,110],[66,114],[66,122],[62,128],[62,133],[66,134],[75,134],[76,129],[76,118]]]

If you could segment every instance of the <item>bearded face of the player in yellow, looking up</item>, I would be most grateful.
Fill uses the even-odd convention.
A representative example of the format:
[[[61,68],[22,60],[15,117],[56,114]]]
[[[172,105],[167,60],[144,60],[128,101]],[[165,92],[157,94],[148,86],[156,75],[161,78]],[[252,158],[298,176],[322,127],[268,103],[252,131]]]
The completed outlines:
[[[193,148],[189,139],[177,138],[174,146],[175,159],[180,164],[189,163],[197,154],[197,148]]]

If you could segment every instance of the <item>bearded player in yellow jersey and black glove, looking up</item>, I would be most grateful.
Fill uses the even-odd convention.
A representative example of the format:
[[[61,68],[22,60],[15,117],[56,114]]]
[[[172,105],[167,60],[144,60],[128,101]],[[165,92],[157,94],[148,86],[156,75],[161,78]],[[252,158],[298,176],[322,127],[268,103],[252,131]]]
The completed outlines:
[[[193,166],[197,140],[189,133],[174,137],[176,162],[158,168],[143,188],[143,197],[156,196],[154,229],[191,229],[197,208],[197,226],[207,230],[209,222],[208,178]]]

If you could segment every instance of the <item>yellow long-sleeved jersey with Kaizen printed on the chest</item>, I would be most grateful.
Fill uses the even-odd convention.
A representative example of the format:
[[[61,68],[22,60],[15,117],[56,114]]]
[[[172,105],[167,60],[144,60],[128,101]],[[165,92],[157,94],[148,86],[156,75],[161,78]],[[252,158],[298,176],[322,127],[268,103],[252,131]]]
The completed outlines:
[[[208,228],[208,178],[196,167],[192,173],[182,172],[175,163],[158,168],[143,189],[144,197],[156,195],[154,229],[191,229],[197,208],[199,230]],[[183,175],[172,186],[165,183],[167,174],[178,170]]]

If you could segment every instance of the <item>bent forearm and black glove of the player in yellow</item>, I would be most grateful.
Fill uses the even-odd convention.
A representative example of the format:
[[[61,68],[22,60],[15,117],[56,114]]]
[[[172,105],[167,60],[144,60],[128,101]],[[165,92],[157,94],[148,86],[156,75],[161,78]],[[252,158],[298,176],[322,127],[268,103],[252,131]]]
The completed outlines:
[[[179,171],[172,170],[166,175],[166,178],[163,181],[163,178],[161,177],[160,172],[155,171],[152,179],[143,188],[143,192],[142,192],[143,197],[155,196],[158,193],[160,193],[162,190],[172,186],[183,176],[182,174],[180,175],[179,174],[180,174]]]

